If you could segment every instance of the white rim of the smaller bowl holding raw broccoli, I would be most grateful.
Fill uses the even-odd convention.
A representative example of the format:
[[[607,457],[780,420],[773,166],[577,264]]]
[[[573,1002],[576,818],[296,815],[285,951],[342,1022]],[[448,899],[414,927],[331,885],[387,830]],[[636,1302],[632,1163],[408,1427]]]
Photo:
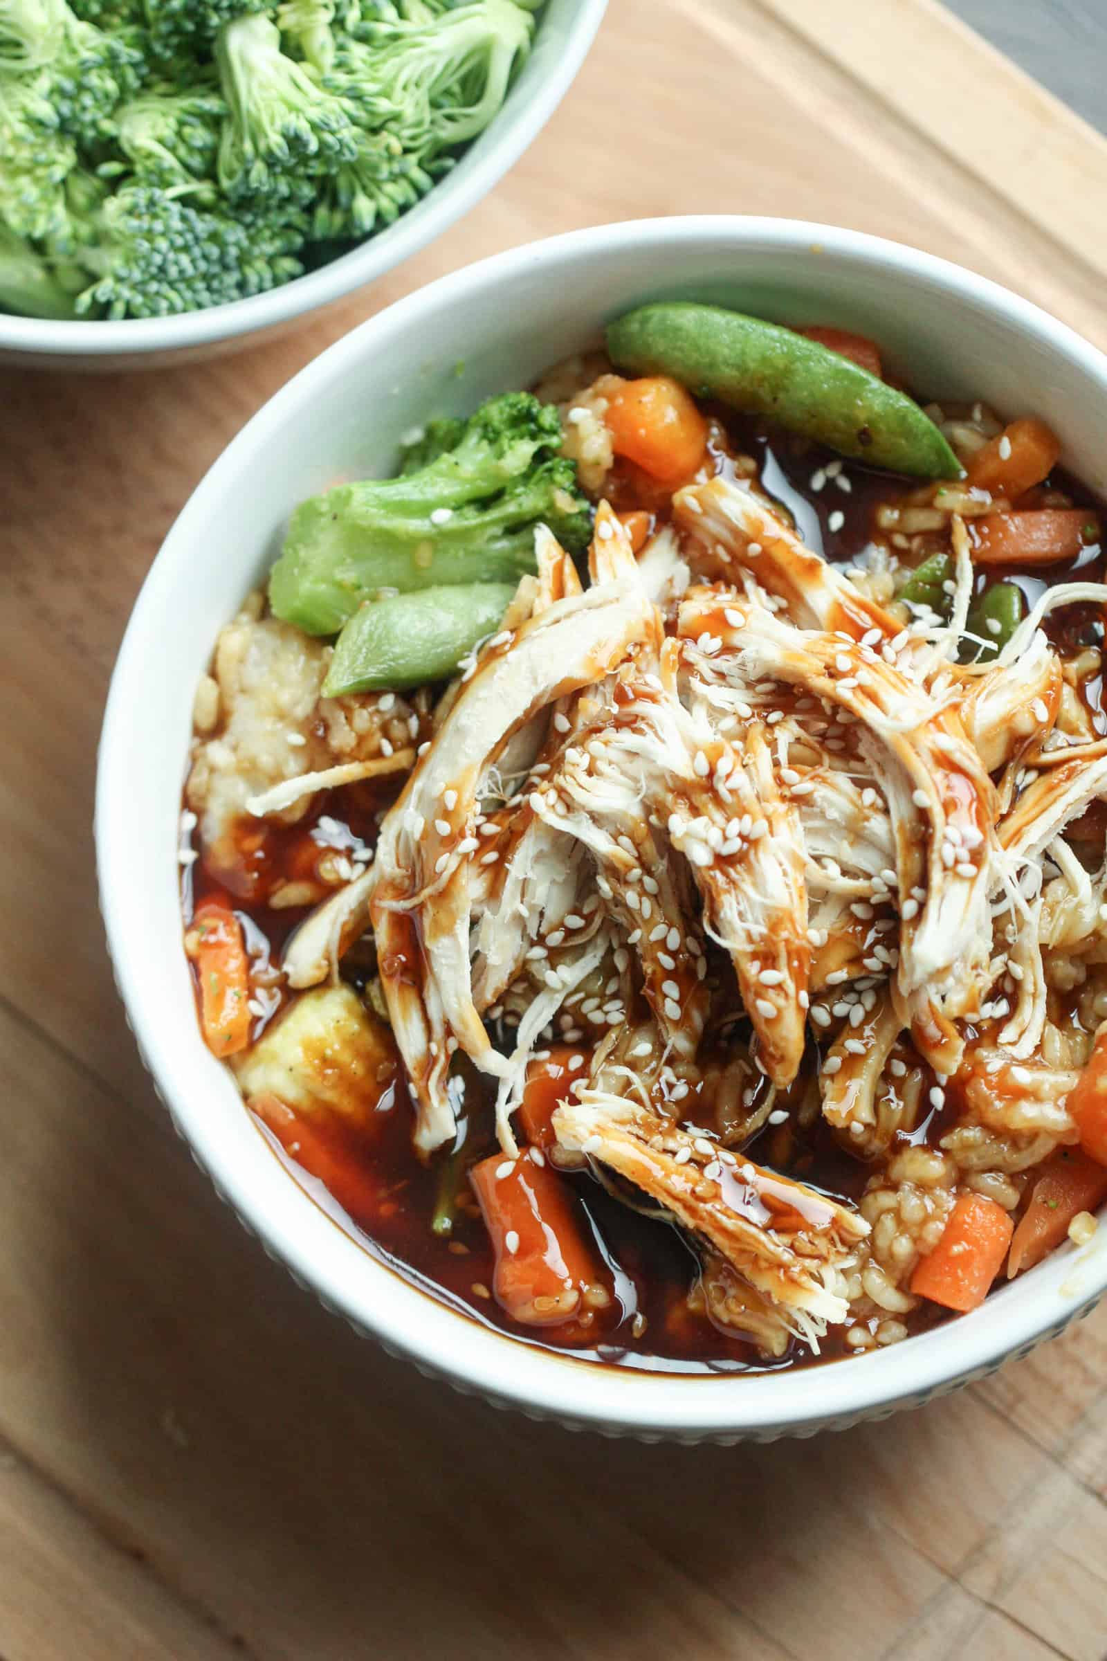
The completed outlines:
[[[456,224],[534,143],[584,63],[607,0],[576,0],[576,5],[578,13],[566,30],[563,51],[553,60],[529,100],[511,111],[503,131],[496,131],[503,121],[500,111],[458,159],[455,173],[446,174],[393,224],[337,259],[319,266],[317,271],[292,277],[290,282],[282,282],[266,294],[252,294],[176,317],[58,321],[0,311],[0,350],[48,354],[60,360],[116,355],[139,359],[154,352],[196,350],[224,341],[246,342],[259,331],[279,329],[295,317],[307,317],[367,287]],[[483,145],[486,136],[500,141]],[[456,186],[443,189],[451,179],[456,179]],[[427,211],[420,213],[423,208]]]

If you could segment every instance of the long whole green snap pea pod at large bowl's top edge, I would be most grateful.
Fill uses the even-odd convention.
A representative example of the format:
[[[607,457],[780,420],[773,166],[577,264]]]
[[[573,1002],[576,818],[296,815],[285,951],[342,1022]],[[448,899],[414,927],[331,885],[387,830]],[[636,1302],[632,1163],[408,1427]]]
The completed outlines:
[[[616,369],[672,375],[699,397],[765,415],[841,455],[914,478],[961,463],[913,399],[807,336],[722,306],[667,301],[607,326]]]

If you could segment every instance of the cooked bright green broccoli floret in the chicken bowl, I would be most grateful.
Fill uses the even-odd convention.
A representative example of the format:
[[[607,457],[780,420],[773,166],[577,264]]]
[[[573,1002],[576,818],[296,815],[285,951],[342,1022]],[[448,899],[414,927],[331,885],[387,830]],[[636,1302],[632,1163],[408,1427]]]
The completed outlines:
[[[588,543],[591,510],[558,453],[553,405],[508,392],[420,443],[422,467],[299,505],[269,580],[277,616],[334,635],[380,590],[516,581],[534,570],[538,523],[573,551]]]

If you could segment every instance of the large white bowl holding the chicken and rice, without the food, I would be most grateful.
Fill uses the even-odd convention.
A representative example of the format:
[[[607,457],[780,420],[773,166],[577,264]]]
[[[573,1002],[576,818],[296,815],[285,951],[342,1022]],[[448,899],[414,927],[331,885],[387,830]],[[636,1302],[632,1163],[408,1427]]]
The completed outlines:
[[[770,1440],[924,1402],[1059,1332],[1107,1287],[1107,1229],[1079,1254],[1057,1251],[973,1316],[830,1367],[710,1379],[553,1355],[418,1292],[297,1186],[199,1038],[181,947],[174,850],[193,688],[216,631],[272,560],[290,507],[335,475],[385,468],[405,429],[526,385],[607,317],[656,297],[865,329],[924,394],[1046,417],[1066,460],[1107,493],[1107,359],[1014,294],[909,247],[778,219],[657,219],[471,266],[304,369],[173,527],[108,699],[96,792],[101,904],[134,1035],[181,1134],[239,1218],[329,1307],[463,1390],[573,1427]]]

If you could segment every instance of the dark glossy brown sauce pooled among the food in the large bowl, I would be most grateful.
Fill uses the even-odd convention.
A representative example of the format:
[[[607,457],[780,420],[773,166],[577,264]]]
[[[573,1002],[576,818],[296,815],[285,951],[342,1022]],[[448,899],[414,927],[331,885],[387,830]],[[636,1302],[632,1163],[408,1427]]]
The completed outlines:
[[[770,437],[763,427],[735,419],[729,412],[712,414],[725,420],[734,450],[755,457],[763,487],[793,515],[805,543],[835,563],[848,565],[873,538],[876,507],[909,488],[903,480],[841,462],[815,445],[800,443],[787,435]],[[812,488],[812,480],[818,478],[833,460],[840,462],[840,477],[848,480],[850,490],[840,488],[833,478],[825,480],[822,490]],[[1064,488],[1075,503],[1097,507],[1074,480],[1059,475],[1056,478],[1059,488]],[[609,497],[619,510],[654,505],[646,475],[626,463],[617,463]],[[662,503],[667,503],[667,495],[656,495],[659,510]],[[841,515],[841,522],[835,515]],[[831,517],[835,517],[833,530]],[[1007,573],[992,570],[989,575],[994,578]],[[1052,581],[1069,575],[1069,570],[1061,566],[1049,571]],[[1097,578],[1099,568],[1085,566],[1080,576]],[[1029,603],[1046,586],[1039,576],[1027,573],[1017,573],[1017,581]],[[1064,641],[1059,643],[1075,646],[1077,641],[1090,638],[1087,631],[1092,625],[1099,628],[1092,608],[1066,613]],[[1099,708],[1100,696],[1100,686],[1094,683],[1089,699],[1097,731],[1107,731],[1107,718]],[[334,830],[315,829],[324,817],[349,827],[354,837],[372,845],[378,814],[387,804],[388,797],[368,786],[322,797],[297,826],[261,827],[257,847],[251,854],[252,869],[264,874],[266,880],[302,875],[314,839],[319,839],[320,852],[342,840]],[[207,894],[226,892],[226,885],[212,880],[202,859],[186,872],[184,887],[186,915]],[[264,937],[272,962],[279,963],[287,937],[307,915],[307,909],[272,910],[246,897],[251,887],[252,884],[244,884],[242,894],[236,897],[247,942],[261,945],[259,935]],[[358,987],[373,973],[372,955],[358,958],[360,950],[355,947],[344,962],[345,978]],[[256,1022],[254,1038],[264,1025],[266,1022]],[[798,1103],[815,1066],[817,1055],[812,1046],[805,1073],[788,1093],[792,1101]],[[959,1105],[949,1091],[946,1108],[941,1113],[931,1111],[903,1141],[936,1144],[958,1116]],[[465,1120],[460,1133],[463,1166],[496,1151],[491,1126],[491,1100],[480,1076],[471,1071],[466,1076]],[[586,1317],[584,1330],[574,1327],[569,1334],[556,1327],[519,1325],[491,1296],[493,1249],[476,1199],[463,1176],[458,1183],[458,1211],[451,1232],[441,1236],[432,1229],[443,1166],[451,1151],[440,1151],[430,1163],[417,1158],[412,1146],[410,1103],[398,1076],[380,1090],[367,1129],[355,1133],[337,1120],[322,1121],[315,1116],[312,1129],[315,1158],[310,1158],[300,1144],[294,1123],[274,1128],[259,1121],[261,1134],[267,1136],[277,1156],[302,1179],[304,1166],[295,1158],[300,1154],[309,1173],[305,1181],[309,1191],[317,1203],[327,1204],[329,1214],[339,1226],[358,1236],[372,1256],[425,1292],[514,1339],[593,1362],[685,1374],[765,1372],[815,1359],[797,1344],[780,1360],[767,1360],[752,1344],[720,1332],[705,1316],[690,1309],[687,1299],[689,1289],[695,1284],[697,1261],[682,1236],[674,1227],[624,1206],[588,1173],[564,1173],[561,1179],[571,1186],[573,1203],[579,1208],[586,1234],[593,1236],[606,1264],[604,1279],[612,1294],[611,1302]],[[818,1115],[807,1128],[798,1123],[797,1115],[787,1124],[765,1126],[744,1151],[758,1164],[840,1199],[856,1201],[871,1174],[870,1166],[843,1153]],[[310,1179],[315,1174],[312,1164],[319,1166],[320,1174],[324,1169],[342,1173],[342,1179],[332,1179],[330,1186],[332,1191],[342,1189],[344,1206],[325,1201],[319,1193],[319,1184]],[[644,1324],[636,1317],[644,1317]],[[908,1317],[908,1324],[918,1332],[944,1319],[948,1319],[946,1311],[923,1302]],[[841,1330],[831,1329],[818,1359],[833,1360],[845,1352]]]

